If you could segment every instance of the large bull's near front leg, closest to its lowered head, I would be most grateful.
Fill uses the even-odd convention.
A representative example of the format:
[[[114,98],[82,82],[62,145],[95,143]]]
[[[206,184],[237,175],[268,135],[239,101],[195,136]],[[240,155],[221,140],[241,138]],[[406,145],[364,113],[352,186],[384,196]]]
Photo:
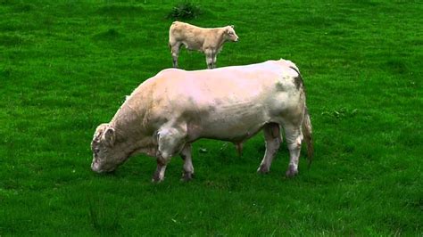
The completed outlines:
[[[164,172],[171,157],[178,153],[183,145],[187,131],[174,127],[162,128],[157,133],[159,148],[157,150],[157,169],[153,174],[153,182],[159,183],[164,179]]]

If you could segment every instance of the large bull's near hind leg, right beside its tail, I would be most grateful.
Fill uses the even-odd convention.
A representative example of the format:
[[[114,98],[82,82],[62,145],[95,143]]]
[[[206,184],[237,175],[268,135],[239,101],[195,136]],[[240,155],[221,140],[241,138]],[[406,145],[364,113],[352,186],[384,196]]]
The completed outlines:
[[[300,159],[303,134],[300,126],[286,125],[284,128],[289,150],[289,167],[286,170],[286,177],[293,177],[298,174],[298,161]]]

